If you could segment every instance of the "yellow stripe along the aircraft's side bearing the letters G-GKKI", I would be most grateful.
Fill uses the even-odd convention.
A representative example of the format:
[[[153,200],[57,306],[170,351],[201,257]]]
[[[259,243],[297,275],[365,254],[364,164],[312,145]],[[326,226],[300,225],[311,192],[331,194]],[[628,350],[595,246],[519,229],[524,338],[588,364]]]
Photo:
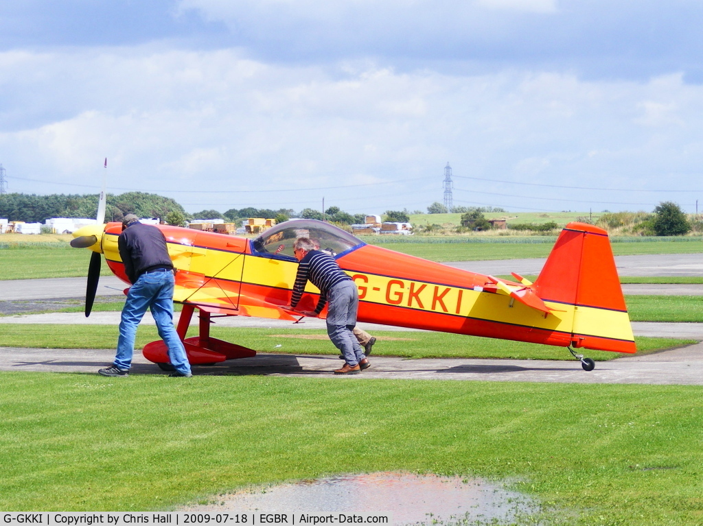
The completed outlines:
[[[105,238],[107,238],[103,241],[105,256],[114,261],[121,261],[120,254],[117,252],[117,236],[105,236]],[[114,249],[112,249],[111,239],[114,239]],[[173,243],[169,243],[168,246],[174,265],[179,270],[189,270],[207,277],[217,277],[233,282],[241,280],[244,283],[290,290],[298,269],[298,264],[292,261]],[[557,312],[545,317],[540,311],[529,308],[519,301],[513,301],[510,296],[503,294],[364,272],[345,272],[359,287],[359,299],[369,303],[565,333],[589,334],[601,338],[626,341],[634,339],[627,313],[616,310],[574,307],[574,305],[547,301],[546,305]],[[186,291],[176,291],[176,295],[184,298],[193,295],[193,289],[186,289]],[[305,291],[312,294],[319,293],[317,287],[310,282],[305,287]],[[203,287],[198,297],[202,295],[205,298],[216,298],[218,294],[220,293],[217,287],[207,287],[207,289]],[[230,292],[229,295],[231,294]],[[195,296],[192,296],[190,301],[195,301]]]

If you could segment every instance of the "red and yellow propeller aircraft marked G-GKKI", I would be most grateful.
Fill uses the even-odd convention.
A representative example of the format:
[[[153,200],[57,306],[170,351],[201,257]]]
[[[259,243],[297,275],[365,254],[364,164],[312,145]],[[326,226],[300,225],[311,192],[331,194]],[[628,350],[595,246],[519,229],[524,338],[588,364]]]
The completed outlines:
[[[280,223],[255,239],[159,225],[176,268],[174,301],[183,304],[177,331],[191,364],[256,354],[209,336],[212,314],[297,321],[289,310],[298,267],[293,243],[310,237],[334,255],[359,287],[359,321],[488,336],[569,348],[590,371],[593,360],[574,349],[635,353],[636,347],[607,232],[584,223],[562,230],[534,283],[513,274],[501,280],[366,244],[340,228],[313,220]],[[93,251],[86,294],[89,315],[100,254],[127,282],[117,250],[120,223],[75,232],[72,246]],[[297,308],[314,310],[319,291],[307,285]],[[200,335],[185,338],[195,309]],[[325,317],[326,308],[320,317]],[[162,341],[143,355],[167,369]]]

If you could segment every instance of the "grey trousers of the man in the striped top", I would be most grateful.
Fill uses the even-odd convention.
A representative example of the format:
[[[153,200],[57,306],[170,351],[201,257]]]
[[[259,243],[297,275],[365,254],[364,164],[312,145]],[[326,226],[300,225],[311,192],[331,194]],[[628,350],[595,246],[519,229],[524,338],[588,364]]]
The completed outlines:
[[[344,355],[344,360],[354,367],[366,357],[352,332],[359,308],[356,284],[351,280],[337,283],[327,292],[327,301],[327,334]]]

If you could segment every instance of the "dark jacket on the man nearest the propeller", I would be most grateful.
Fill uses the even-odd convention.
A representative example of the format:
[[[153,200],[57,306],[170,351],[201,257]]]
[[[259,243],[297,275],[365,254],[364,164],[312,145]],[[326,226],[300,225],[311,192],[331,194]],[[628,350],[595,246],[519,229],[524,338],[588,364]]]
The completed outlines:
[[[153,225],[131,223],[117,238],[117,248],[120,249],[124,272],[132,284],[148,270],[174,268],[166,248],[166,238]]]

